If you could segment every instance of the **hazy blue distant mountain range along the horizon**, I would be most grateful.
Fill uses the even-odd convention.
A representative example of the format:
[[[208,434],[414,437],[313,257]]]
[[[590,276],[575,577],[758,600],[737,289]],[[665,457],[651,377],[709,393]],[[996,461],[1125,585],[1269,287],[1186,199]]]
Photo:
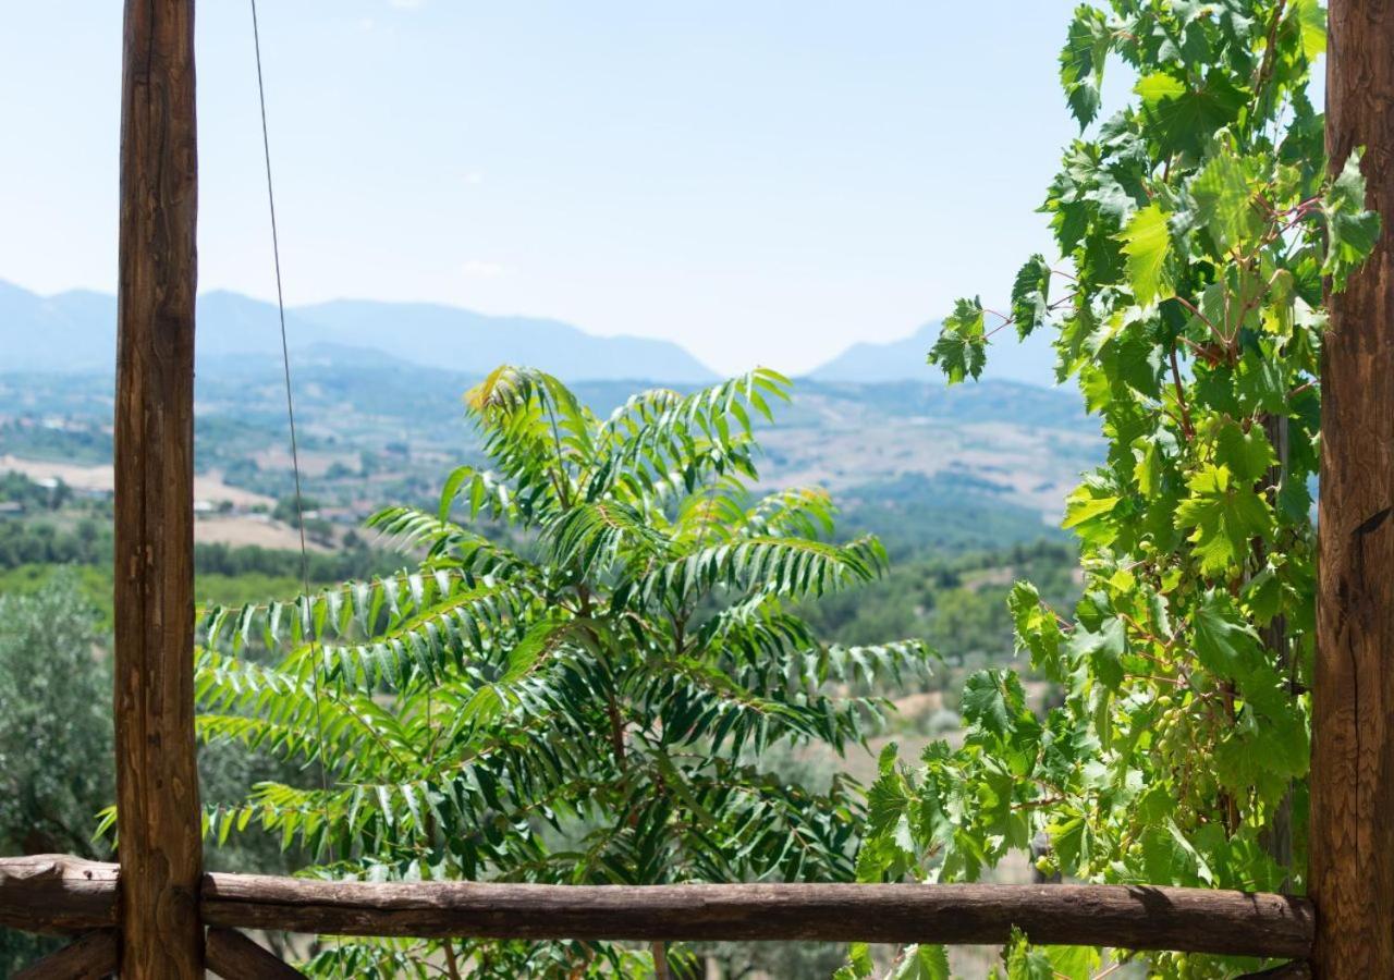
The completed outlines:
[[[668,340],[601,337],[556,319],[492,316],[428,303],[335,300],[286,312],[296,349],[326,344],[368,349],[401,360],[485,374],[499,364],[527,364],[569,382],[643,379],[704,383],[717,374]],[[237,293],[198,298],[198,358],[208,367],[224,358],[280,355],[275,305]],[[810,372],[827,382],[928,381],[926,353],[938,323],[905,340],[857,343]],[[0,372],[88,374],[110,371],[116,344],[116,297],[72,290],[38,296],[0,282]],[[344,350],[347,354],[347,350]],[[986,376],[1050,385],[1048,346],[994,344]]]

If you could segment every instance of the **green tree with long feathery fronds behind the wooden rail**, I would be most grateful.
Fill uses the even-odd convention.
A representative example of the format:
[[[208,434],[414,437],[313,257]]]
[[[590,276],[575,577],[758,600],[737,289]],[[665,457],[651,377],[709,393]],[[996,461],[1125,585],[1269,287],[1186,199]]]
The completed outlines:
[[[763,763],[859,742],[882,704],[842,691],[917,676],[926,651],[824,645],[796,615],[874,580],[884,556],[873,538],[832,542],[821,491],[747,489],[751,417],[785,389],[756,371],[599,418],[549,375],[491,375],[467,406],[492,470],[456,470],[436,513],[374,519],[425,551],[418,570],[209,613],[202,736],[323,772],[212,807],[213,839],[272,832],[314,873],[374,880],[850,878],[860,795]],[[478,534],[484,519],[521,544]],[[247,657],[258,644],[282,659]],[[648,955],[342,941],[309,969],[583,976]]]

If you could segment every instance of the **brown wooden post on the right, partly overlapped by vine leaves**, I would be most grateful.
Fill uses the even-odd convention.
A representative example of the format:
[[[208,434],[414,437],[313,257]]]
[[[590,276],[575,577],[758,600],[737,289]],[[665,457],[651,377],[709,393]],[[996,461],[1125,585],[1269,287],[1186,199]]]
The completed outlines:
[[[1322,368],[1310,894],[1320,980],[1394,977],[1394,4],[1331,0],[1327,152],[1383,231]]]

